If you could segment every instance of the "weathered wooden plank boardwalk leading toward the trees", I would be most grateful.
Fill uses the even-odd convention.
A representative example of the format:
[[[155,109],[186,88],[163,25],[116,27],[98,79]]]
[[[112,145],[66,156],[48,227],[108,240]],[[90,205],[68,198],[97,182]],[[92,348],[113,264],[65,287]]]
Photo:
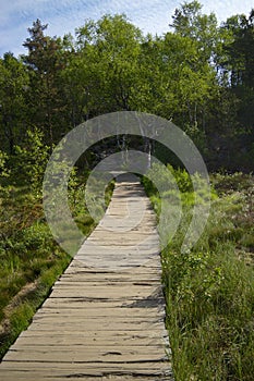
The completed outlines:
[[[118,181],[105,218],[4,356],[0,380],[172,380],[155,219],[137,177]]]

